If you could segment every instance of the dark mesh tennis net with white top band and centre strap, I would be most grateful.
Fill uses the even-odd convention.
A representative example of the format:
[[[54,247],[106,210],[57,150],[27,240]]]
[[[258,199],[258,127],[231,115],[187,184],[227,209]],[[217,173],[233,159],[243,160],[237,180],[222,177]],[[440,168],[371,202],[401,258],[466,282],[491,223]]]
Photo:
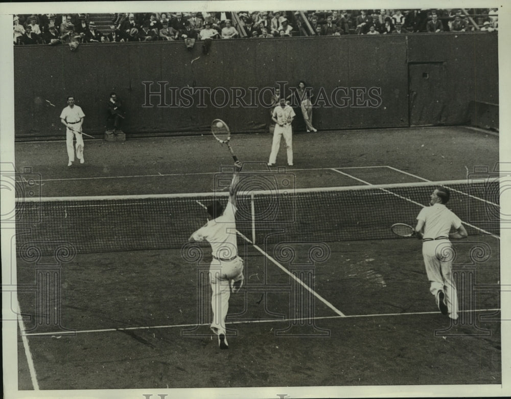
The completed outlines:
[[[469,235],[499,234],[498,182],[443,184],[451,189],[448,208],[466,223]],[[259,244],[396,239],[390,226],[415,226],[417,214],[438,185],[239,192],[237,228]],[[206,223],[205,205],[215,200],[225,204],[227,196],[219,192],[19,200],[16,246],[19,252],[36,242],[43,253],[55,242],[70,243],[78,253],[181,248]]]

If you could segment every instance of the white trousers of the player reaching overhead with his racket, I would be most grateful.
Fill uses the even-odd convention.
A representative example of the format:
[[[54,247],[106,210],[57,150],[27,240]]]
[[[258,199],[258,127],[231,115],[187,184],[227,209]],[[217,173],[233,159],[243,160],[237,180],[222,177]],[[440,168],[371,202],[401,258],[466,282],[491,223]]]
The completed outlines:
[[[210,284],[212,290],[211,308],[213,322],[211,329],[215,334],[225,334],[225,318],[229,310],[231,282],[243,280],[243,259],[239,256],[224,262],[213,258],[210,264]]]

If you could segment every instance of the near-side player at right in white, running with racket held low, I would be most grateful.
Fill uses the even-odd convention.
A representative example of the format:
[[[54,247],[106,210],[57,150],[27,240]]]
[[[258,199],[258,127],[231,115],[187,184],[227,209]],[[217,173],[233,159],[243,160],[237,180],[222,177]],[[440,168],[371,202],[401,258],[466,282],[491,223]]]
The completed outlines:
[[[461,220],[447,209],[450,191],[446,187],[436,188],[430,197],[429,207],[421,209],[417,216],[415,234],[422,239],[422,255],[430,281],[430,292],[442,314],[453,320],[458,318],[458,293],[452,280],[454,252],[449,238],[467,237]],[[424,227],[424,234],[422,229]],[[456,230],[450,233],[451,229]]]

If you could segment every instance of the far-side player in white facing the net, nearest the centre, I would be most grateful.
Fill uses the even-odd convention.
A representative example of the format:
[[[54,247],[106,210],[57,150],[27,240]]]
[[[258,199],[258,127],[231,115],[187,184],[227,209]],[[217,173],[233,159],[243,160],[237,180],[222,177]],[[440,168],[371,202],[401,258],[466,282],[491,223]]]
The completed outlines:
[[[286,140],[288,165],[293,166],[293,130],[291,123],[295,113],[292,107],[286,104],[286,99],[281,97],[280,104],[273,108],[271,119],[276,123],[273,131],[273,143],[271,145],[270,160],[268,166],[275,165],[278,149],[281,146],[281,138]]]

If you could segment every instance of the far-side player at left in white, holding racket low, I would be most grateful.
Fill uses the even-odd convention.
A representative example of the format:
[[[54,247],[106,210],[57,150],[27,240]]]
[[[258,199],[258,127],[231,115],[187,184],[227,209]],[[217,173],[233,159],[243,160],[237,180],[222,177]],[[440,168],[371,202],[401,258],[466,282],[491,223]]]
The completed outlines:
[[[66,127],[66,146],[67,146],[67,157],[69,161],[67,166],[73,165],[75,161],[75,149],[73,148],[73,138],[76,137],[76,158],[83,164],[83,137],[82,137],[82,123],[85,114],[82,108],[75,105],[75,97],[67,97],[67,106],[62,109],[60,114],[60,121]]]

